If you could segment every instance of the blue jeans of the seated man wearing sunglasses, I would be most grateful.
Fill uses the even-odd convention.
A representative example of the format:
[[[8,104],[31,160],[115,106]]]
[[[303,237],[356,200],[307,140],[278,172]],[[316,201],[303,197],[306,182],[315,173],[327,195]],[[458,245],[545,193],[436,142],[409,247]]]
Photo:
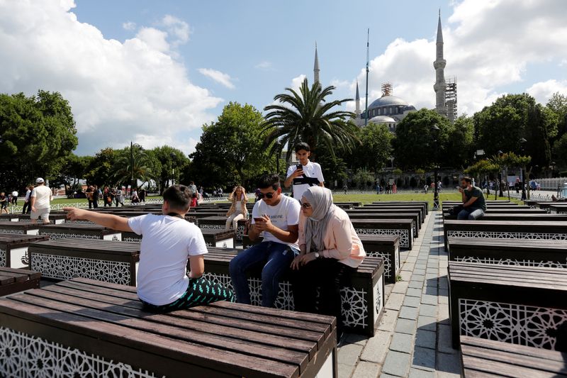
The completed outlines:
[[[240,252],[230,261],[228,269],[232,286],[236,292],[236,301],[250,304],[250,288],[247,272],[252,267],[262,267],[262,306],[274,307],[278,297],[279,282],[283,272],[289,269],[296,251],[287,244],[262,242]]]

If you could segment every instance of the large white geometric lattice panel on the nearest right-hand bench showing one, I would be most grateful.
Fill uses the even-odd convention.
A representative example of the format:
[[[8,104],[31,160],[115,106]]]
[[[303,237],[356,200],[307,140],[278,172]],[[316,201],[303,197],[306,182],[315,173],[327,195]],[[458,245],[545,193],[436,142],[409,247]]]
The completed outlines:
[[[459,321],[461,335],[555,350],[567,310],[461,298]]]

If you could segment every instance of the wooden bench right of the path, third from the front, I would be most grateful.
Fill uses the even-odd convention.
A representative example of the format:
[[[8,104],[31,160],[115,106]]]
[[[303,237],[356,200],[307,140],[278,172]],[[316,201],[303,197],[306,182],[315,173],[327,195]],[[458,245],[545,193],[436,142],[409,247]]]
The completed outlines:
[[[457,262],[567,269],[567,240],[449,238],[449,250]]]

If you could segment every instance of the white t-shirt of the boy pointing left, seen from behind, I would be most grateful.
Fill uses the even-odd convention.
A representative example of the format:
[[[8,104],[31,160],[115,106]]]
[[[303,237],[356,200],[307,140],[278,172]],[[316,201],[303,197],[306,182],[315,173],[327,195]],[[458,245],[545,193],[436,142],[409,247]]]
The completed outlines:
[[[137,295],[155,306],[179,299],[189,286],[189,256],[208,252],[201,230],[185,219],[155,214],[130,218],[128,226],[143,235]]]

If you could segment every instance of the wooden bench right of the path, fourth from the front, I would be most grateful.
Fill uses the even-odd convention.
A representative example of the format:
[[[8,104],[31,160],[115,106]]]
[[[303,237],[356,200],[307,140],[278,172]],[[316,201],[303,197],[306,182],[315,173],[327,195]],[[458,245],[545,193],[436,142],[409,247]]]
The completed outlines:
[[[565,222],[546,221],[444,221],[445,249],[448,238],[499,238],[510,242],[527,240],[567,240]]]

